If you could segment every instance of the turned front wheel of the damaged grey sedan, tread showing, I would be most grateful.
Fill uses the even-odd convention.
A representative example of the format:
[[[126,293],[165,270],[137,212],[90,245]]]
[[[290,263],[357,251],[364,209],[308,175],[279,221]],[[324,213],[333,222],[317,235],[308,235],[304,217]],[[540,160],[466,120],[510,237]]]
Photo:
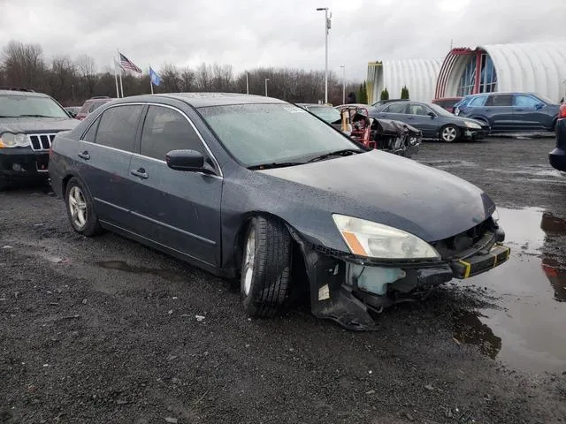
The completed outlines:
[[[256,216],[249,223],[241,263],[241,300],[246,314],[272,317],[287,299],[292,242],[280,221]]]

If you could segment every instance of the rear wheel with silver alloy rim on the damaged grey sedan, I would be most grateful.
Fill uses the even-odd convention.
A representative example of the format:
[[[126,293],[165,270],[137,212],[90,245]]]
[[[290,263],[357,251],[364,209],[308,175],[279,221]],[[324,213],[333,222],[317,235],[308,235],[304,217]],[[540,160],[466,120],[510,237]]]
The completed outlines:
[[[96,216],[94,201],[77,178],[71,178],[65,188],[65,205],[73,230],[90,237],[102,231]]]

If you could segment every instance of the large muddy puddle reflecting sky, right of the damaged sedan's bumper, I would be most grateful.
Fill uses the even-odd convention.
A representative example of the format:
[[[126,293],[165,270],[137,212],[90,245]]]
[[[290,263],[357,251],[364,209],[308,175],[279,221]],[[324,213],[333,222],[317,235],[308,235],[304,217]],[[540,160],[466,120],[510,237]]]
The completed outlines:
[[[501,310],[463,312],[454,337],[510,367],[566,371],[566,221],[539,208],[499,214],[509,261],[466,283],[493,290]]]

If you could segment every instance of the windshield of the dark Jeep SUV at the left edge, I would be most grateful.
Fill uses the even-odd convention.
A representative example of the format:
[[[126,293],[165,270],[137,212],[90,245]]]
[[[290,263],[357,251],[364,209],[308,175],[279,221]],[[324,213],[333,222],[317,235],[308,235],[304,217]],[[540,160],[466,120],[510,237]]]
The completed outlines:
[[[50,97],[0,95],[0,117],[66,117],[69,115]]]

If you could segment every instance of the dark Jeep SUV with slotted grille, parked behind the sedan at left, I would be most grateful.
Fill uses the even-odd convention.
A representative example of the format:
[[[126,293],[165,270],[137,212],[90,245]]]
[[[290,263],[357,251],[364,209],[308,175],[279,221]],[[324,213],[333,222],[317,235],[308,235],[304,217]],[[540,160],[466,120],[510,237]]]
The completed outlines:
[[[0,90],[0,191],[17,180],[47,181],[51,140],[77,124],[49,95]]]

